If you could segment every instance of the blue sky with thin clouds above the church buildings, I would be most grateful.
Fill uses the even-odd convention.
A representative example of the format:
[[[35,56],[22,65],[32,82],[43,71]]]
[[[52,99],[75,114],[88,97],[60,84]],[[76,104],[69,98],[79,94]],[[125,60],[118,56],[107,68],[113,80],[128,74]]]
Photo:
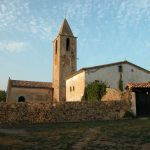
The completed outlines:
[[[150,0],[0,0],[0,89],[52,81],[53,40],[67,18],[77,68],[128,60],[150,70]]]

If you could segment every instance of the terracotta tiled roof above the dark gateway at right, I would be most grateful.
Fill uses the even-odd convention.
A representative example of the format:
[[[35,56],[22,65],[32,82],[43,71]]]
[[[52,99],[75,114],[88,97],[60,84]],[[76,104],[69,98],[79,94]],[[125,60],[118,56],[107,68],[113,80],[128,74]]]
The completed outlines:
[[[150,88],[150,82],[146,83],[128,83],[127,84],[128,89],[133,89],[133,88]]]

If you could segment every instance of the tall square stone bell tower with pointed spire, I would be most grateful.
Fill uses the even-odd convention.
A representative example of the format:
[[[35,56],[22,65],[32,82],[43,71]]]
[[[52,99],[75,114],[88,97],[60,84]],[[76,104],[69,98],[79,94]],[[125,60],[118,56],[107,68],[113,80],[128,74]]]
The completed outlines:
[[[53,88],[54,101],[66,101],[66,77],[76,72],[77,38],[65,18],[54,40]]]

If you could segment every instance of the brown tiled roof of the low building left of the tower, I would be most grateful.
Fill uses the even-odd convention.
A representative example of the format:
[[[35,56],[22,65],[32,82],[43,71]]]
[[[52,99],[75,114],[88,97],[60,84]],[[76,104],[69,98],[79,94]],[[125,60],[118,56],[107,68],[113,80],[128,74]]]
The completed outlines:
[[[28,88],[52,88],[51,82],[36,82],[36,81],[22,81],[10,80],[13,87],[28,87]]]

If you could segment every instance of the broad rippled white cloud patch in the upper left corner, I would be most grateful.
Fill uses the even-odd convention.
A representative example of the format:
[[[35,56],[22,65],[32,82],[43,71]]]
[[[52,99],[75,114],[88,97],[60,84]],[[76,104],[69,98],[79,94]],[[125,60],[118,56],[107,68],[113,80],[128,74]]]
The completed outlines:
[[[30,0],[0,2],[0,31],[16,30],[48,38],[51,35],[50,24],[44,17],[39,16],[39,10],[35,9],[37,12],[33,13],[31,3]]]

